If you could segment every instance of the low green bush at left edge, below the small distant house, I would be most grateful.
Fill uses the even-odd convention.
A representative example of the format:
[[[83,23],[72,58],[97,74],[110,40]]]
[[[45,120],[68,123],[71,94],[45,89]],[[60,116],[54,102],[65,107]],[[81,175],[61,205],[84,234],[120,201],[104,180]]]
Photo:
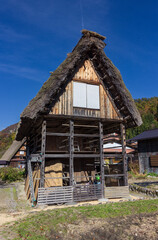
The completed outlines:
[[[12,167],[0,168],[0,178],[3,181],[14,182],[22,180],[24,178],[24,175],[25,170]]]

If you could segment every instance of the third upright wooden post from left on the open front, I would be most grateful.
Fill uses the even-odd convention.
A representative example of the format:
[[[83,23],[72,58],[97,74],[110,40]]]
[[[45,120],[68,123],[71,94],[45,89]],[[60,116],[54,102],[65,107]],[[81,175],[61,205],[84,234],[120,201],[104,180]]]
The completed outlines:
[[[101,175],[101,186],[102,186],[102,198],[104,198],[104,152],[103,152],[103,124],[99,122],[99,135],[100,135],[100,175]]]

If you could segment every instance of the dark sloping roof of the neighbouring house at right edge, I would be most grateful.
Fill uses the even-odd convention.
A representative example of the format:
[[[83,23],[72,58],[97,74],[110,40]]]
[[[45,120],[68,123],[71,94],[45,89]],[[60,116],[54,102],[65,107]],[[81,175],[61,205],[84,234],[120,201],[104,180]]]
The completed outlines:
[[[151,138],[158,138],[158,128],[144,131],[143,133],[137,135],[136,137],[130,139],[131,141],[139,141]]]

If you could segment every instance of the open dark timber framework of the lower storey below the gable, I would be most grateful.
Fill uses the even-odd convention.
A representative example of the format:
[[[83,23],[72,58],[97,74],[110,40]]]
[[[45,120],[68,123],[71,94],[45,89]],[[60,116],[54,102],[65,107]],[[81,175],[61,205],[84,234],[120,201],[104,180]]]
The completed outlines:
[[[109,123],[109,125],[107,124]],[[38,186],[36,186],[39,190],[39,193],[43,194],[44,193],[48,193],[48,191],[46,190],[46,188],[49,188],[49,193],[51,191],[51,186],[47,186],[45,185],[45,180],[49,179],[49,180],[55,180],[55,179],[61,179],[62,181],[67,180],[68,182],[68,186],[58,186],[61,187],[61,191],[63,191],[63,194],[61,194],[61,198],[51,198],[52,199],[52,203],[62,203],[63,201],[70,200],[71,201],[79,201],[79,200],[95,200],[95,199],[99,199],[99,198],[104,198],[105,196],[105,178],[121,178],[121,184],[119,184],[118,186],[127,186],[128,185],[128,180],[127,180],[127,164],[126,164],[126,145],[125,145],[125,128],[124,125],[122,123],[122,121],[118,120],[117,123],[117,127],[118,130],[120,128],[120,134],[122,136],[122,154],[106,154],[104,156],[103,153],[103,137],[106,133],[106,131],[108,131],[109,126],[113,125],[112,121],[105,121],[103,119],[93,119],[93,121],[87,123],[87,120],[83,119],[82,117],[77,117],[77,118],[73,118],[73,119],[67,119],[66,117],[63,117],[60,119],[60,123],[56,124],[56,116],[44,116],[42,123],[40,124],[41,128],[39,128],[39,126],[37,127],[37,129],[34,129],[34,132],[37,133],[37,131],[39,131],[39,135],[35,135],[32,134],[32,136],[30,137],[30,141],[28,139],[28,144],[27,144],[27,152],[29,152],[29,158],[28,158],[28,176],[30,179],[30,184],[28,186],[30,186],[30,197],[32,199],[32,203],[34,203],[34,201],[37,201],[37,194],[35,196],[35,191],[37,193],[37,190],[35,188],[36,186],[36,181],[38,181]],[[53,127],[54,125],[54,127]],[[60,127],[57,127],[59,126]],[[106,127],[108,125],[108,127]],[[78,127],[79,126],[79,127]],[[116,123],[115,123],[116,126]],[[85,132],[85,128],[88,130],[86,133]],[[82,130],[84,129],[84,131]],[[56,131],[58,130],[58,131]],[[79,133],[80,132],[80,133]],[[33,137],[34,136],[34,137]],[[53,137],[54,139],[57,138],[64,138],[63,141],[67,141],[68,142],[68,147],[66,150],[64,151],[60,151],[59,150],[48,150],[47,149],[47,144],[49,144],[47,142],[47,138],[51,139],[51,137]],[[35,141],[35,138],[37,139]],[[67,139],[67,140],[66,140]],[[74,142],[76,139],[81,139],[81,141],[83,141],[83,139],[90,139],[91,142],[95,142],[95,146],[98,146],[98,150],[96,151],[75,151],[74,149]],[[120,158],[123,159],[122,161],[122,172],[121,173],[113,173],[113,174],[105,174],[105,161],[104,158]],[[46,177],[45,176],[45,162],[47,162],[48,159],[51,159],[51,161],[53,162],[53,159],[67,159],[67,164],[68,164],[68,176],[60,176],[60,177]],[[86,186],[86,193],[85,193],[85,188],[83,189],[83,182],[82,182],[82,178],[87,178],[87,183],[92,181],[94,181],[95,179],[95,174],[93,173],[93,175],[86,175],[86,176],[77,176],[75,175],[75,170],[74,170],[74,166],[76,164],[76,161],[82,161],[86,159],[91,159],[92,162],[91,164],[93,164],[95,166],[99,166],[99,174],[100,174],[100,185],[99,188],[96,185],[94,188],[94,184],[93,185],[85,185]],[[96,163],[95,163],[96,161]],[[36,164],[39,164],[39,170],[40,170],[40,178],[37,178],[37,176],[35,176],[34,173],[34,169]],[[31,167],[30,167],[31,164]],[[29,171],[31,171],[29,173]],[[38,171],[38,170],[36,170]],[[35,177],[34,177],[35,176]],[[34,179],[33,179],[34,178]],[[81,182],[82,184],[76,184],[78,181],[78,178],[80,178],[81,180],[79,182]],[[71,186],[71,190],[69,188],[69,186]],[[68,188],[67,188],[68,187]],[[79,189],[80,188],[80,189]],[[91,189],[91,191],[88,191],[87,189],[89,188],[89,190]],[[45,189],[45,190],[44,190]],[[52,191],[57,194],[58,191],[55,190],[55,186],[52,187]],[[65,198],[63,196],[65,196],[67,189],[69,189],[72,192],[72,197],[71,198]],[[93,191],[92,191],[93,189]],[[82,191],[84,190],[84,191]],[[80,192],[80,194],[77,194],[76,191]],[[89,194],[88,194],[89,192]],[[93,195],[92,195],[93,192]],[[97,195],[98,194],[98,195]],[[109,193],[108,193],[109,194]],[[45,204],[45,203],[51,203],[51,200],[48,199],[48,201],[46,200],[46,197],[42,198],[41,195],[39,195],[39,204]],[[54,196],[51,195],[50,196]],[[43,200],[42,200],[43,199]],[[65,200],[63,200],[65,199]],[[66,201],[67,201],[66,200]]]

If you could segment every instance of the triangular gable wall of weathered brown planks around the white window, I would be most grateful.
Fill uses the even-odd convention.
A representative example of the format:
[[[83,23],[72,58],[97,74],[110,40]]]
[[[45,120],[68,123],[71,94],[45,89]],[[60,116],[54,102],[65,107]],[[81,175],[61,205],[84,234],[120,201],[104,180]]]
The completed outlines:
[[[78,72],[73,77],[73,81],[99,86],[100,109],[95,110],[86,108],[73,108],[73,82],[69,82],[65,88],[65,91],[59,97],[58,102],[56,102],[56,104],[50,111],[50,114],[77,115],[97,118],[102,116],[103,118],[107,117],[110,119],[119,119],[120,114],[119,112],[117,112],[115,103],[110,94],[108,93],[107,89],[105,88],[103,81],[95,72],[94,66],[90,60],[86,60],[83,63],[83,65],[79,68]],[[109,87],[110,90],[111,88],[113,88],[113,85]]]

